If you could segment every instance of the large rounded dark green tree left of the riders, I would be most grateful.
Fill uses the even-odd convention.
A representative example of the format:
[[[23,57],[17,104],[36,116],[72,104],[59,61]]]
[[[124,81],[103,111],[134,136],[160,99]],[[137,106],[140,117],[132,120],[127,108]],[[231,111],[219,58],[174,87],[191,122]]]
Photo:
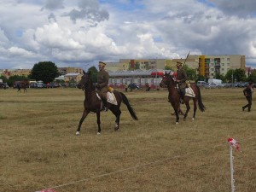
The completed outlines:
[[[58,67],[51,61],[38,62],[32,67],[31,79],[42,80],[44,84],[54,81],[60,75]]]

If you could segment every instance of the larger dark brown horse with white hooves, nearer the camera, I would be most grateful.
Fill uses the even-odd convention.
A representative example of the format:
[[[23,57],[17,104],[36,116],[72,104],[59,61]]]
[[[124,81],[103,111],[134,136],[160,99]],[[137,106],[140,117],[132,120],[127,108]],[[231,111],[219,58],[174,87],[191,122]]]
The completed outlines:
[[[84,72],[84,71],[83,71]],[[96,113],[96,117],[97,117],[97,125],[98,125],[98,132],[97,134],[101,134],[101,108],[102,108],[102,101],[98,98],[97,93],[96,93],[96,89],[92,83],[91,77],[90,77],[90,72],[89,73],[85,73],[82,76],[81,81],[78,84],[78,88],[84,90],[84,112],[82,114],[82,118],[79,120],[79,126],[76,132],[76,135],[80,134],[80,129],[81,129],[81,125],[83,124],[84,119],[87,117],[87,115],[90,112]],[[114,130],[117,131],[119,129],[119,119],[120,119],[120,105],[121,102],[124,102],[126,107],[128,108],[132,119],[137,120],[137,115],[134,112],[133,108],[131,108],[131,105],[127,99],[127,97],[125,96],[125,94],[117,91],[117,90],[113,90],[113,94],[116,98],[117,101],[117,105],[114,105],[112,103],[108,102],[108,109],[115,115],[116,119],[115,119],[115,127]]]

